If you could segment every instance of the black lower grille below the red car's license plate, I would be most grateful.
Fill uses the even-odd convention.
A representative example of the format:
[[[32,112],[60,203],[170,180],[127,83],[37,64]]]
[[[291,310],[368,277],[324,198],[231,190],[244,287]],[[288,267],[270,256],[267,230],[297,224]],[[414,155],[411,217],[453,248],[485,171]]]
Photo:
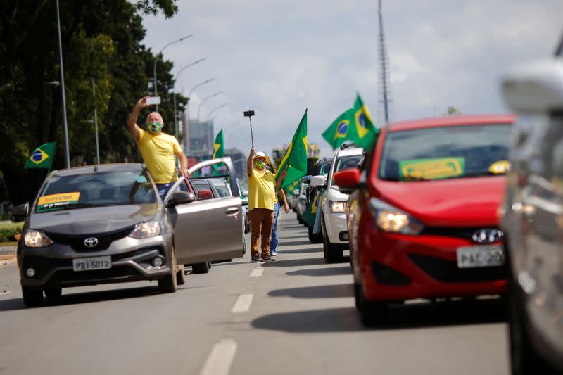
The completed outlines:
[[[505,267],[458,268],[457,262],[426,255],[409,254],[408,257],[422,271],[442,283],[471,283],[506,278]]]

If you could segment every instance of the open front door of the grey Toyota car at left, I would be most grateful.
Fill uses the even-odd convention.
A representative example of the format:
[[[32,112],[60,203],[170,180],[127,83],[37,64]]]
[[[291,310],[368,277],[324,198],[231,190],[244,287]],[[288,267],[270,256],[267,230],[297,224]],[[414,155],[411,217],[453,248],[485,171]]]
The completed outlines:
[[[228,196],[214,197],[167,208],[174,225],[174,246],[179,264],[190,265],[211,260],[241,258],[245,253],[243,212],[239,185],[231,158],[205,160],[190,167],[188,172],[196,172],[205,177],[205,167],[212,170],[213,165],[227,167],[223,178],[230,186]],[[224,170],[222,168],[221,170]],[[217,178],[208,175],[208,178]],[[165,197],[170,201],[177,186],[184,183],[181,177]]]

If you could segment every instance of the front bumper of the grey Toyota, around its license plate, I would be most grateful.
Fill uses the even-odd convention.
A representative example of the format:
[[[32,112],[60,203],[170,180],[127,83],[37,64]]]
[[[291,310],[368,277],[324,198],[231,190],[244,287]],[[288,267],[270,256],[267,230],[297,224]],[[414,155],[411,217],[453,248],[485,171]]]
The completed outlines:
[[[172,272],[172,235],[149,239],[125,237],[113,241],[106,250],[77,251],[71,245],[53,243],[46,248],[18,248],[18,265],[22,286],[30,288],[70,287],[110,284],[128,281],[155,280]],[[111,268],[75,272],[72,260],[89,257],[111,257]],[[151,260],[164,258],[161,267]],[[28,277],[27,268],[35,270]]]

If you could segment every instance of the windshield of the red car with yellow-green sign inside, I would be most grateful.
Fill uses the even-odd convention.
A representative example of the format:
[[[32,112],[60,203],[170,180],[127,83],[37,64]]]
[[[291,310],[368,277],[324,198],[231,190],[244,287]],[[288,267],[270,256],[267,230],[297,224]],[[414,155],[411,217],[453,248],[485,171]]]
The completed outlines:
[[[463,125],[391,132],[379,178],[420,181],[505,174],[510,124]]]

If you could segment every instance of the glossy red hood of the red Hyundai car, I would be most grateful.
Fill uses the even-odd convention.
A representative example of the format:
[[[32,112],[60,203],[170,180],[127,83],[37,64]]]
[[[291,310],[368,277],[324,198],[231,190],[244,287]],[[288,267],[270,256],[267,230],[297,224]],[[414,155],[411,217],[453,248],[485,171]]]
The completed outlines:
[[[505,176],[375,184],[381,200],[422,220],[426,226],[498,225]]]

